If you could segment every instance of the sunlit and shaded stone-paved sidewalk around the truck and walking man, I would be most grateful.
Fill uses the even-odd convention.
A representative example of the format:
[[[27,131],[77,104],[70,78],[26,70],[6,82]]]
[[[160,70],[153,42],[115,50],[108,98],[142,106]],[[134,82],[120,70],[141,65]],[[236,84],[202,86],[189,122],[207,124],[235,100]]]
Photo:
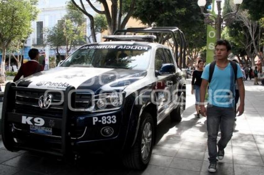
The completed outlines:
[[[158,143],[150,165],[143,172],[125,169],[118,160],[91,155],[78,164],[65,164],[54,157],[27,151],[9,152],[0,137],[0,174],[111,174],[111,175],[205,175],[208,167],[206,118],[194,117],[194,96],[187,87],[187,106],[182,122],[171,123],[169,117],[157,129]],[[245,82],[245,113],[237,118],[225,158],[217,164],[219,175],[264,174],[264,86]],[[2,147],[2,148],[1,148]]]

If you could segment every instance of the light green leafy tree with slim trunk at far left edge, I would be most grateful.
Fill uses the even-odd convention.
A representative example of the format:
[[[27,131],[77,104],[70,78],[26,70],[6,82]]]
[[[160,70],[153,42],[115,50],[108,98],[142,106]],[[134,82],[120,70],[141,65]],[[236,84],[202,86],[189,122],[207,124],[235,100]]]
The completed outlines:
[[[14,40],[26,39],[32,32],[31,21],[37,17],[37,0],[0,1],[1,80],[4,81],[6,50]]]

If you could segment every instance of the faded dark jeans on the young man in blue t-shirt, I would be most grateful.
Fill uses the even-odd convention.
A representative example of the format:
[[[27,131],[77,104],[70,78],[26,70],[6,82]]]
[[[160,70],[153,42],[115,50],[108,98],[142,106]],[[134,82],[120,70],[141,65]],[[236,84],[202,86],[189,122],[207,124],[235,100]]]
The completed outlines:
[[[208,131],[208,153],[209,161],[216,162],[217,146],[218,150],[223,150],[233,135],[234,108],[223,108],[207,105],[207,131]],[[221,138],[217,142],[218,128],[220,125]]]

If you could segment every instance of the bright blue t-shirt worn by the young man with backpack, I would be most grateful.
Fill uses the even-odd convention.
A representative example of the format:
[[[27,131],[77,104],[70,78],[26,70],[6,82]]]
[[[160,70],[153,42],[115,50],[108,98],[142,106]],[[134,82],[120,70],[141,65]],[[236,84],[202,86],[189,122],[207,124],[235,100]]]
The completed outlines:
[[[210,64],[205,66],[202,79],[209,79]],[[237,64],[237,79],[241,78],[242,72]],[[218,107],[234,107],[235,88],[234,88],[234,70],[229,63],[224,70],[215,66],[211,83],[208,90],[208,103]]]

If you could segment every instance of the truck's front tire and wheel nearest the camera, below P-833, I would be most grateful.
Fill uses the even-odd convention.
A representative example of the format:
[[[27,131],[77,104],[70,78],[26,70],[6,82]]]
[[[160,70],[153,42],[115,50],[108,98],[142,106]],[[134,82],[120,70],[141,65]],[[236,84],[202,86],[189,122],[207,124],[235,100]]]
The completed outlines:
[[[123,156],[123,164],[127,168],[143,170],[148,166],[154,145],[154,122],[152,116],[144,112],[139,126],[135,144]],[[145,134],[147,133],[148,136]],[[146,136],[146,137],[145,137]],[[148,140],[148,144],[145,141]],[[144,141],[144,143],[143,143]],[[144,149],[143,153],[141,150]]]

